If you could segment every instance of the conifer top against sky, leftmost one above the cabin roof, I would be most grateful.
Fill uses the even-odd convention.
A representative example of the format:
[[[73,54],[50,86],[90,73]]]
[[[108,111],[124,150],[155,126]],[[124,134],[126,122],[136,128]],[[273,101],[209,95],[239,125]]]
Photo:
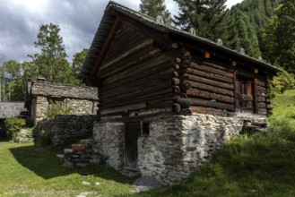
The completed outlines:
[[[139,5],[141,13],[144,13],[152,18],[161,15],[164,22],[170,23],[170,13],[166,9],[165,0],[141,0]]]

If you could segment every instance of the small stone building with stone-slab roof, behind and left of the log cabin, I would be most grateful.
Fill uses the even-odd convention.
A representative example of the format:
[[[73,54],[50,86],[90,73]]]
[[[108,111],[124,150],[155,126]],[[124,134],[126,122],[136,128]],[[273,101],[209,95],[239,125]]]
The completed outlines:
[[[72,86],[47,81],[32,81],[28,86],[27,107],[34,124],[47,116],[50,103],[70,108],[71,115],[95,115],[98,110],[97,88]]]

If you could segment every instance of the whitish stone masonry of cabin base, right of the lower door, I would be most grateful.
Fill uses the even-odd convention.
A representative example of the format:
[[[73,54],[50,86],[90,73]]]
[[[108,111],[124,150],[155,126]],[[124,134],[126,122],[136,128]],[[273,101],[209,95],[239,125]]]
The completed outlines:
[[[138,140],[140,171],[143,176],[154,176],[163,184],[176,184],[237,137],[245,124],[263,122],[265,118],[206,115],[154,121],[150,123],[149,136]]]

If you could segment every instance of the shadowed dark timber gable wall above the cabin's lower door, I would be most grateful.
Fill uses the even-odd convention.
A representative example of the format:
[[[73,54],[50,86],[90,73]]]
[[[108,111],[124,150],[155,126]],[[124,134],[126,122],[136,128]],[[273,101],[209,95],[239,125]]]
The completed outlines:
[[[100,114],[172,105],[173,61],[154,40],[122,24],[100,66]]]

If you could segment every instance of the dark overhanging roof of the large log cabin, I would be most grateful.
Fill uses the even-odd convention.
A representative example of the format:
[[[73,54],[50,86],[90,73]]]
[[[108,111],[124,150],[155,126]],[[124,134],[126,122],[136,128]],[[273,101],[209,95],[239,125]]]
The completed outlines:
[[[273,66],[272,64],[266,64],[256,58],[242,55],[235,50],[232,50],[228,47],[223,47],[218,45],[217,43],[213,42],[209,39],[203,39],[198,36],[193,36],[187,31],[178,30],[177,28],[171,27],[166,24],[158,23],[152,17],[146,16],[143,13],[135,12],[123,6],[121,4],[117,4],[115,2],[110,1],[107,5],[105,13],[100,21],[100,26],[95,34],[94,39],[92,40],[91,47],[89,49],[89,53],[86,56],[84,63],[82,65],[82,70],[80,73],[80,77],[84,78],[91,75],[91,71],[96,64],[98,57],[100,56],[100,51],[105,44],[106,39],[108,38],[108,33],[111,30],[114,22],[118,15],[123,15],[131,20],[137,21],[144,26],[161,32],[163,34],[176,34],[180,37],[184,37],[186,39],[191,39],[192,41],[202,43],[203,45],[210,47],[216,51],[219,51],[223,54],[228,54],[231,59],[233,60],[240,60],[246,62],[247,64],[254,64],[255,66],[259,67],[267,71],[268,73],[277,73],[282,72],[282,69]]]

